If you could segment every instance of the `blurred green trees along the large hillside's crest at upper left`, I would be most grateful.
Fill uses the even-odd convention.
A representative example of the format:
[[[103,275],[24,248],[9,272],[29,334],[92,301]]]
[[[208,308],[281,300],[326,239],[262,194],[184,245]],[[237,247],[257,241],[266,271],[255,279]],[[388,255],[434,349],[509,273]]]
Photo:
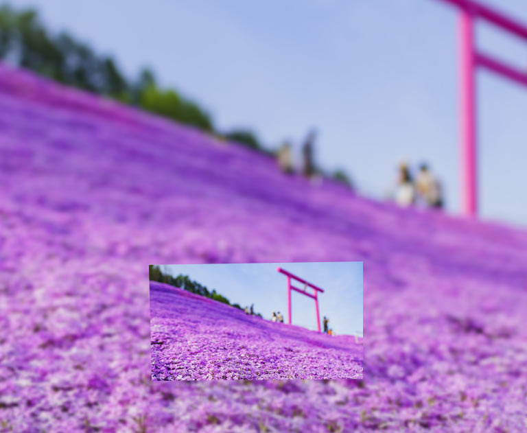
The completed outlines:
[[[205,108],[175,89],[161,87],[150,69],[143,68],[136,78],[127,78],[112,57],[96,53],[67,32],[49,32],[35,10],[0,7],[0,59],[63,84],[194,126],[220,139],[275,154],[251,130],[218,130]],[[319,168],[317,171],[350,185],[342,170],[333,174],[325,174]]]

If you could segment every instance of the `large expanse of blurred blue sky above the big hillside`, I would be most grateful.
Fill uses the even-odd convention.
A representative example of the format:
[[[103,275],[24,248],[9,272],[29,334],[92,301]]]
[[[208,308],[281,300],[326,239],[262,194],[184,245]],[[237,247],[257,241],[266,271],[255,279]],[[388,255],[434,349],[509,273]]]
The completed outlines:
[[[525,0],[488,4],[527,22]],[[316,157],[382,197],[401,159],[428,161],[459,209],[456,10],[437,0],[15,0],[134,75],[206,106],[270,145],[319,131]],[[527,45],[488,25],[478,45],[527,69]],[[527,225],[527,89],[478,75],[483,218]]]

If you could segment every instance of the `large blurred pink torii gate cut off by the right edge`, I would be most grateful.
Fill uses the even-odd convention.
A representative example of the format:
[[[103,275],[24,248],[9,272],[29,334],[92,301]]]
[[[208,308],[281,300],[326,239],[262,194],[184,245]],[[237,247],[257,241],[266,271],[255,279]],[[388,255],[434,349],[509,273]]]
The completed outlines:
[[[460,51],[460,153],[462,211],[473,217],[477,213],[477,149],[476,149],[476,68],[493,71],[517,84],[527,86],[527,73],[504,64],[484,54],[474,46],[473,22],[487,21],[502,30],[527,40],[527,27],[488,6],[472,0],[441,0],[460,10],[459,51]]]

